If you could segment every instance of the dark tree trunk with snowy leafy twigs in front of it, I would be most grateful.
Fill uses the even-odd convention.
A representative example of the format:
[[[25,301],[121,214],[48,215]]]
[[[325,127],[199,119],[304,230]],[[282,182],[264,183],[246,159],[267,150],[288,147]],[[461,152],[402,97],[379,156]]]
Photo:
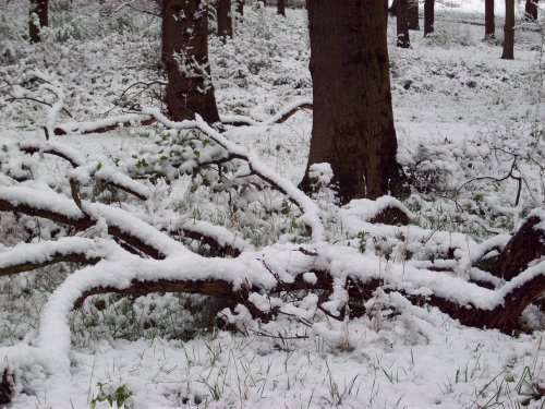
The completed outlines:
[[[208,11],[201,0],[164,0],[162,61],[168,74],[165,101],[175,121],[198,113],[219,122],[208,63]]]

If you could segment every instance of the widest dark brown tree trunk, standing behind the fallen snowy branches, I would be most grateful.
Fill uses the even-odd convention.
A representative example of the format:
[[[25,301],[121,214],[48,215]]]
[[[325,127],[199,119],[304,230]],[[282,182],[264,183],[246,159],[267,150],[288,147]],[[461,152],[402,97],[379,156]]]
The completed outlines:
[[[401,191],[382,1],[307,2],[314,115],[311,165],[329,163],[342,203]]]

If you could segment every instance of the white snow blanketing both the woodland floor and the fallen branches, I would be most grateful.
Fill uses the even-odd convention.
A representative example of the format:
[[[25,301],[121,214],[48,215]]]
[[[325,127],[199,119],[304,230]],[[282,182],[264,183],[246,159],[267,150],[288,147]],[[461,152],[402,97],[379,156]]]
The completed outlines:
[[[125,407],[135,408],[543,406],[543,393],[535,395],[545,382],[537,308],[524,313],[533,321],[529,333],[510,336],[465,327],[404,296],[436,294],[463,308],[493,310],[509,291],[545,275],[543,260],[508,282],[476,267],[501,251],[525,219],[545,219],[543,141],[536,136],[545,119],[542,28],[518,26],[517,60],[499,60],[499,40],[481,41],[483,2],[438,2],[434,38],[412,32],[413,49],[390,47],[398,160],[431,191],[339,207],[327,187],[332,176],[327,164],[312,169],[320,184],[314,199],[296,188],[306,166],[312,113],[301,110],[276,123],[293,108],[312,104],[303,11],[288,10],[287,19],[278,19],[272,8],[246,9],[232,41],[220,46],[210,37],[221,118],[249,124],[227,125],[220,133],[198,118],[167,120],[153,97],[157,87],[118,100],[135,82],[162,81],[150,62],[158,59],[158,22],[128,5],[146,8],[148,2],[57,3],[51,3],[50,40],[33,46],[23,39],[27,14],[13,2],[0,5],[5,15],[0,17],[5,34],[0,38],[0,73],[5,75],[0,84],[11,82],[11,87],[0,85],[0,201],[32,204],[74,220],[88,214],[97,221],[68,237],[70,227],[2,212],[0,268],[47,263],[68,253],[101,261],[0,278],[0,369],[15,374],[13,408],[85,408],[100,390],[121,386],[131,394]],[[499,37],[500,5],[496,2]],[[390,19],[390,46],[393,27]],[[33,75],[41,80],[35,84]],[[4,93],[49,106],[8,101]],[[140,127],[150,117],[158,122]],[[125,122],[132,125],[87,133]],[[49,141],[44,141],[43,125]],[[55,128],[66,135],[53,136]],[[164,137],[186,137],[185,145],[170,151],[171,160],[194,149],[201,156],[184,161],[186,168],[161,167],[167,151],[156,140]],[[25,148],[37,154],[23,155]],[[199,160],[227,157],[227,152],[239,158],[223,180],[210,178],[206,185],[202,181],[208,175],[191,175]],[[154,171],[166,169],[168,181],[141,179],[143,159]],[[501,179],[513,163],[513,175],[523,178],[518,205],[512,178],[468,182],[483,176]],[[282,193],[247,176],[251,171]],[[71,197],[68,177],[81,183],[85,214]],[[142,197],[104,189],[105,183]],[[226,185],[229,194],[221,191]],[[410,225],[370,221],[388,206],[403,212]],[[130,254],[111,239],[108,227],[165,257]],[[545,230],[543,222],[536,228]],[[241,255],[216,257],[198,240],[179,233],[183,229]],[[279,282],[319,285],[322,270],[334,274],[332,292],[268,294]],[[126,289],[133,280],[158,279],[221,279],[234,289],[251,288],[251,294],[247,305],[221,305],[219,316],[230,330],[199,324],[199,313],[215,300],[177,293],[95,296],[73,311],[89,288]],[[366,313],[355,316],[346,304],[347,286],[377,279],[384,288],[368,294]],[[336,321],[318,305],[346,318]],[[279,314],[256,323],[252,306]],[[216,312],[209,314],[213,320]]]

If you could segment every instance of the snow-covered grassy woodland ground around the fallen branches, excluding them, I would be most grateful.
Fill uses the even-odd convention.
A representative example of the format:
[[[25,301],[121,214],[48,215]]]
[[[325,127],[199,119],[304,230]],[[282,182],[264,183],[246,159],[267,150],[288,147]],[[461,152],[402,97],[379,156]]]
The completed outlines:
[[[457,3],[438,7],[431,39],[411,32],[412,49],[393,47],[395,20],[389,21],[398,159],[415,184],[432,189],[405,203],[414,231],[427,238],[419,248],[423,258],[432,246],[461,240],[457,233],[471,234],[471,245],[512,233],[545,203],[543,23],[518,24],[516,60],[500,60],[499,21],[497,41],[483,43],[483,2]],[[28,98],[55,106],[58,89],[72,118],[61,111],[57,124],[158,106],[157,84],[131,87],[164,81],[157,19],[130,8],[52,1],[50,38],[29,46],[22,38],[27,10],[21,4],[0,3],[0,145],[43,141],[50,109]],[[496,8],[501,15],[502,4]],[[222,46],[210,38],[218,107],[221,115],[266,121],[293,100],[312,97],[306,17],[303,10],[288,10],[286,20],[272,9],[246,8],[245,14],[232,41]],[[47,75],[51,87],[31,91],[36,86],[27,82],[29,70]],[[311,130],[312,113],[302,110],[282,124],[231,128],[226,136],[296,183]],[[164,131],[132,127],[57,141],[98,163],[129,164]],[[475,177],[502,178],[513,160],[524,181],[517,205],[513,179],[465,184]],[[65,171],[55,160],[36,166],[51,181]],[[172,207],[235,230],[256,248],[298,236],[296,228],[286,227],[290,215],[272,218],[258,209],[233,215],[206,191],[189,194],[186,184],[169,192]],[[327,194],[319,201],[331,215],[330,242],[358,249],[361,237],[383,231],[358,219],[365,208],[361,203],[339,210]],[[0,249],[16,241],[14,222],[0,215]],[[40,312],[72,269],[45,267],[0,278],[2,347],[36,342]],[[278,330],[274,336],[209,329],[211,302],[197,300],[184,310],[187,298],[177,294],[98,296],[70,317],[70,377],[26,366],[15,380],[19,394],[11,407],[107,408],[107,398],[116,397],[134,408],[544,407],[543,315],[535,309],[524,316],[533,332],[508,336],[464,327],[433,308],[403,305],[403,313],[389,316],[388,305],[399,308],[400,301],[391,294],[374,301],[384,304],[376,314],[347,326],[325,317],[306,337],[305,327],[288,322],[270,327]],[[344,336],[348,345],[339,342]]]

